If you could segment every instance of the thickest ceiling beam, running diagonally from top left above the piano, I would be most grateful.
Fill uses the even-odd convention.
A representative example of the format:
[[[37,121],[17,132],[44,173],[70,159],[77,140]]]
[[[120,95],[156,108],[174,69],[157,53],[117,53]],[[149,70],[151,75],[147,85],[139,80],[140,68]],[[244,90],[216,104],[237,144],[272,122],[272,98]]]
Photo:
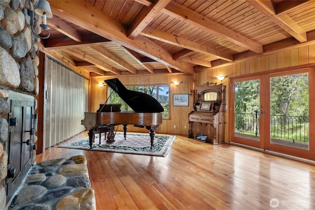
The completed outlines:
[[[53,13],[86,30],[115,41],[149,58],[169,65],[183,73],[192,75],[193,67],[189,63],[172,59],[172,55],[151,40],[137,36],[131,40],[126,37],[125,28],[106,13],[84,0],[49,0]]]

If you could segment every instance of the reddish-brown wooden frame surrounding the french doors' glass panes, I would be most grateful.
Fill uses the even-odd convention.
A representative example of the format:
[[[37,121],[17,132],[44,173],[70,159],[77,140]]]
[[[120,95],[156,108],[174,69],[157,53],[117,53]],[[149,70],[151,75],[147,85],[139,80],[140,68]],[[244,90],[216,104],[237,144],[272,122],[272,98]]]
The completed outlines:
[[[304,152],[301,152],[299,149],[294,149],[294,148],[287,148],[285,150],[281,150],[281,148],[279,148],[277,145],[273,145],[273,146],[277,146],[277,147],[269,147],[268,145],[265,145],[266,141],[270,142],[270,135],[266,135],[268,133],[270,133],[270,104],[267,105],[265,102],[269,101],[270,98],[270,91],[269,91],[269,87],[268,87],[268,91],[266,91],[267,94],[265,94],[264,97],[260,97],[263,98],[263,115],[267,115],[269,117],[264,117],[264,121],[260,121],[260,128],[261,126],[263,126],[264,132],[262,134],[262,132],[260,132],[260,138],[262,138],[261,135],[263,135],[263,141],[259,141],[259,143],[255,143],[256,145],[249,145],[249,148],[254,148],[254,149],[258,149],[258,150],[265,150],[268,152],[273,152],[273,153],[277,153],[277,154],[284,154],[284,155],[288,155],[288,156],[292,156],[292,157],[298,157],[298,158],[304,158],[304,159],[309,159],[309,160],[315,160],[315,129],[311,129],[312,127],[315,127],[315,94],[311,94],[312,90],[315,90],[315,67],[314,66],[300,66],[300,68],[298,67],[290,67],[290,68],[283,68],[283,69],[277,69],[277,70],[270,70],[270,71],[265,71],[265,72],[257,72],[254,74],[247,74],[247,75],[241,75],[241,76],[235,76],[235,77],[230,77],[229,78],[229,97],[228,97],[228,101],[229,101],[229,114],[228,114],[228,118],[229,118],[229,126],[228,126],[228,143],[231,143],[232,139],[235,138],[233,137],[234,135],[234,82],[235,81],[246,81],[244,80],[244,78],[257,78],[257,77],[261,77],[263,78],[264,81],[268,81],[268,79],[270,79],[270,75],[274,75],[274,74],[281,74],[281,72],[284,72],[284,74],[295,74],[295,73],[305,73],[308,72],[309,73],[309,138],[310,138],[310,144],[309,144],[309,151],[307,154],[304,154]],[[294,73],[293,73],[294,72]],[[250,79],[248,79],[250,80]],[[265,83],[265,82],[263,82]],[[268,84],[261,84],[261,87],[266,87],[266,85]],[[262,88],[260,88],[262,89]],[[232,92],[233,91],[233,92]],[[261,91],[260,91],[261,94]],[[269,98],[268,98],[269,97]],[[260,101],[260,104],[262,104],[262,102]],[[233,126],[232,126],[233,125]],[[268,127],[268,129],[265,129],[266,127]],[[261,131],[261,130],[260,130]],[[266,138],[268,138],[266,140]],[[311,142],[311,140],[313,140],[313,142]],[[248,141],[248,140],[247,140]],[[244,146],[246,146],[246,142],[244,141]],[[242,141],[241,141],[242,142]],[[240,145],[243,145],[242,143],[240,143]],[[267,146],[267,148],[266,148]],[[299,150],[299,151],[298,151]],[[288,152],[291,151],[291,152]],[[292,155],[292,151],[294,153],[294,155]]]

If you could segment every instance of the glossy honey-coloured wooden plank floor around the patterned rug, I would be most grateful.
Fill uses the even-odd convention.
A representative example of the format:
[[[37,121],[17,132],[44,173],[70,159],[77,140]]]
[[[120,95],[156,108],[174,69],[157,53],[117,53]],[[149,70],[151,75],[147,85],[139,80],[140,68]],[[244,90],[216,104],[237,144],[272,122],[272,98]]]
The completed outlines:
[[[36,162],[78,154],[97,210],[315,209],[315,165],[261,151],[177,136],[166,157],[54,147]]]

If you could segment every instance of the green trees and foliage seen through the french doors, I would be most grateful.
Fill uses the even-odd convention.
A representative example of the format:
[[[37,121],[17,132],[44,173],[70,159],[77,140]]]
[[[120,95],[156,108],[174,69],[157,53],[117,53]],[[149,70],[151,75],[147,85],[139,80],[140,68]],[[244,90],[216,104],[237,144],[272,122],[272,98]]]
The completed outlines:
[[[254,114],[255,111],[260,110],[259,80],[237,82],[235,83],[234,91],[235,132],[242,131],[252,133],[253,135],[253,132],[249,128],[255,127],[255,124],[249,124],[246,119],[238,118],[237,116]],[[273,124],[271,125],[271,136],[273,138],[308,141],[308,73],[270,78],[270,115],[274,117],[272,120]],[[287,125],[289,124],[287,121],[289,118],[285,118],[284,116],[296,116],[301,121]],[[244,125],[246,125],[245,130]]]

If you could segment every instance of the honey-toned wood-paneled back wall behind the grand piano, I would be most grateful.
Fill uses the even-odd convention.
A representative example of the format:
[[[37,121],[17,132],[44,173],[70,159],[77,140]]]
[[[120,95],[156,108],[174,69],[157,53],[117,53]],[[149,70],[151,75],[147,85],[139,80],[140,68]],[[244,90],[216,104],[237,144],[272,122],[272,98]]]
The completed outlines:
[[[90,112],[95,112],[100,103],[107,99],[107,85],[100,87],[99,82],[103,83],[106,79],[115,77],[93,77],[90,85]],[[168,134],[188,134],[188,113],[192,110],[193,94],[189,96],[189,106],[173,106],[173,94],[189,94],[194,90],[193,76],[186,75],[141,75],[141,76],[118,76],[117,77],[125,86],[132,85],[170,85],[169,92],[169,119],[163,120],[163,124],[158,127],[157,133]],[[179,86],[175,86],[173,81],[182,81]],[[145,103],[145,102],[144,102]],[[174,125],[176,128],[174,129]],[[185,128],[186,126],[186,128]],[[119,126],[118,130],[122,130]],[[145,128],[128,126],[128,131],[147,132]]]

